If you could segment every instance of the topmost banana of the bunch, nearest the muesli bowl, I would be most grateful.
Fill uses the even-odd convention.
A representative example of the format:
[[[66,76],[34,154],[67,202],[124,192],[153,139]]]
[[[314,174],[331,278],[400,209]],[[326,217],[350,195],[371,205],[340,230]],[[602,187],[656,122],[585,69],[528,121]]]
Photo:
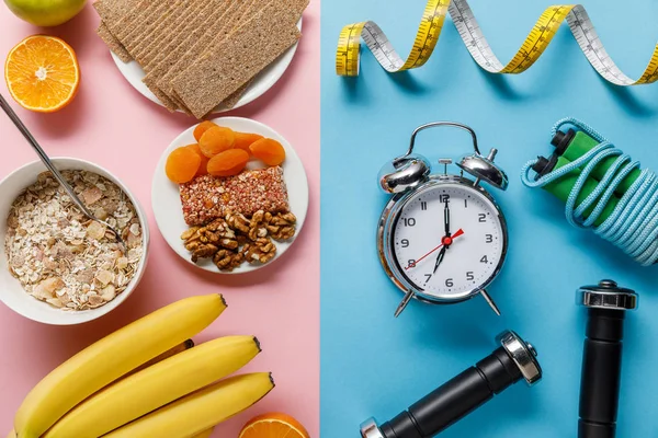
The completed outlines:
[[[82,400],[201,332],[224,309],[220,295],[185,298],[87,347],[30,391],[14,418],[16,437],[38,438]]]

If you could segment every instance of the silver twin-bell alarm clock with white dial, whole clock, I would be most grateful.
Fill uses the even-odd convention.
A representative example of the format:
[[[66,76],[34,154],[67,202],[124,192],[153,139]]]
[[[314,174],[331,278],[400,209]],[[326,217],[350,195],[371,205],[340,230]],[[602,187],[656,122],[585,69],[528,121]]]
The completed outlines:
[[[413,153],[418,132],[432,127],[455,127],[473,137],[475,153],[465,155],[450,174],[451,159],[441,159],[443,173],[431,173],[427,158]],[[379,219],[377,249],[382,266],[405,292],[395,315],[417,299],[454,303],[481,295],[500,314],[486,291],[500,273],[508,249],[504,216],[480,183],[504,191],[506,173],[494,160],[497,150],[480,154],[475,131],[453,122],[418,127],[406,154],[379,172],[379,185],[394,194]],[[473,176],[464,176],[464,172]]]

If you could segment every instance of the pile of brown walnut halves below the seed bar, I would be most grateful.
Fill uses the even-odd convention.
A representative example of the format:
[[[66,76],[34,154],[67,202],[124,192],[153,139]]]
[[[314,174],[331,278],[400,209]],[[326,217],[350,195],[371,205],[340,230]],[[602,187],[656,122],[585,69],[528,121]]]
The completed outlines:
[[[192,262],[212,258],[220,270],[232,270],[243,262],[268,263],[276,255],[272,239],[284,241],[295,235],[297,218],[292,212],[259,210],[251,218],[228,212],[204,227],[192,227],[181,234]]]

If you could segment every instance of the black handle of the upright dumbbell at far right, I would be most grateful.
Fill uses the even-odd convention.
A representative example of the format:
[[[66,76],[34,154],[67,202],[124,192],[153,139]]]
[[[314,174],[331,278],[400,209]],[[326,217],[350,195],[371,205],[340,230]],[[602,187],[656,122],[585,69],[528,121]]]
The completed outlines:
[[[614,438],[625,312],[588,309],[580,380],[579,438]]]

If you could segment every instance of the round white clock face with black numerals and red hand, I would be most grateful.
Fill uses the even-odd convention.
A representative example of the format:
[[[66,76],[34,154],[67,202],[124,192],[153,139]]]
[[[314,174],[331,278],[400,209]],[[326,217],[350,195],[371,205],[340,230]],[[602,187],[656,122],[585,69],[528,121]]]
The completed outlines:
[[[389,244],[399,272],[418,292],[466,298],[488,285],[502,264],[502,221],[496,205],[478,189],[433,184],[405,201]]]

